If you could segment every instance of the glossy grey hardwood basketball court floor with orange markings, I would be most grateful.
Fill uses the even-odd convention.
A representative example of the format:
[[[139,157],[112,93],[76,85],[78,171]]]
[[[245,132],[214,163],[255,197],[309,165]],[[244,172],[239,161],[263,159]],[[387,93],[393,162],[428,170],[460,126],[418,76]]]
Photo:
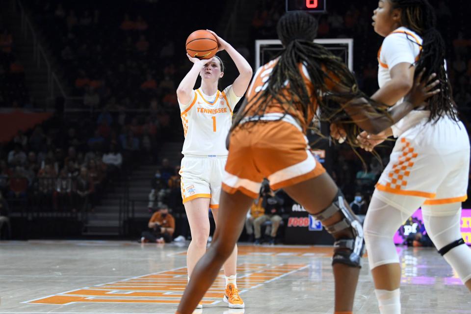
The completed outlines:
[[[186,284],[186,244],[0,242],[0,314],[174,314]],[[434,249],[398,247],[403,313],[471,313],[471,295]],[[332,248],[239,245],[246,309],[228,310],[221,277],[204,314],[333,313]],[[354,313],[379,313],[367,259]]]

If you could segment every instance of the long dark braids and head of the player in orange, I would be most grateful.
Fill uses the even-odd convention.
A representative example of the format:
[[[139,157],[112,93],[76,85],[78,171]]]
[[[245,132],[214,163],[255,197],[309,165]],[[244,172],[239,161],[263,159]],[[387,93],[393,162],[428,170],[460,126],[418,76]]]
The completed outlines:
[[[285,114],[293,112],[293,109],[301,111],[306,123],[311,122],[309,119],[313,113],[320,121],[341,123],[347,133],[347,142],[355,145],[356,136],[361,130],[343,110],[346,103],[364,97],[369,104],[375,105],[378,115],[388,115],[386,105],[370,100],[359,90],[354,75],[339,57],[313,42],[317,34],[317,20],[314,17],[302,11],[288,12],[278,21],[277,33],[284,46],[275,57],[279,57],[278,62],[262,90],[239,110],[232,129],[239,126],[246,116],[262,116],[270,103],[276,102],[281,105]],[[307,69],[316,89],[314,92],[308,90],[300,73],[300,64]],[[332,90],[332,85],[335,84],[340,86],[338,90],[341,92]],[[313,103],[320,110],[313,112]],[[240,127],[250,127],[246,125],[251,124],[246,123]]]

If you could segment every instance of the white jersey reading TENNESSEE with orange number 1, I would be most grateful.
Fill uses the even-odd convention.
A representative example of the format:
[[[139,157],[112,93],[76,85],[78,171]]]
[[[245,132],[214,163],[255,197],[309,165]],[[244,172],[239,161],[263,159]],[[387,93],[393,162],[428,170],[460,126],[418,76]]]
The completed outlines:
[[[194,156],[227,156],[226,136],[232,125],[232,113],[241,97],[232,85],[212,96],[201,88],[192,93],[190,103],[180,105],[185,141],[182,154]]]

